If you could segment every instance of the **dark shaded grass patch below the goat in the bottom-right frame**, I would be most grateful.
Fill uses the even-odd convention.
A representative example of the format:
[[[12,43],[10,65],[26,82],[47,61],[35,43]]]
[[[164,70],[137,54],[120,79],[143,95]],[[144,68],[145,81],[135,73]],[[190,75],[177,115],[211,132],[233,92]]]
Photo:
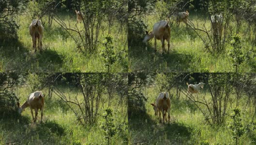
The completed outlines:
[[[132,144],[186,144],[191,138],[191,129],[185,125],[160,124],[158,117],[153,120],[148,114],[131,117],[128,127]]]

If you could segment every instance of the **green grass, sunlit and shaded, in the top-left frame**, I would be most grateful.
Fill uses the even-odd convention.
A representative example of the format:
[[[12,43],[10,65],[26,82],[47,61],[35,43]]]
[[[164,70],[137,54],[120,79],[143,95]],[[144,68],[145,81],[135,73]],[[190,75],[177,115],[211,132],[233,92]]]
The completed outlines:
[[[65,23],[70,21],[75,26],[75,14],[59,13]],[[26,14],[17,17],[19,29],[18,40],[0,43],[0,72],[107,72],[100,51],[94,54],[84,54],[77,48],[76,43],[66,31],[53,20],[52,27],[44,25],[43,52],[34,53],[32,50],[32,38],[28,27],[31,19]],[[82,24],[78,24],[82,27]],[[107,24],[100,29],[98,47],[107,35]],[[111,68],[112,72],[127,72],[127,37],[118,33],[120,26],[116,23],[112,26],[112,33],[115,46],[115,53],[120,52],[122,59],[117,60]],[[125,32],[125,30],[123,30]]]

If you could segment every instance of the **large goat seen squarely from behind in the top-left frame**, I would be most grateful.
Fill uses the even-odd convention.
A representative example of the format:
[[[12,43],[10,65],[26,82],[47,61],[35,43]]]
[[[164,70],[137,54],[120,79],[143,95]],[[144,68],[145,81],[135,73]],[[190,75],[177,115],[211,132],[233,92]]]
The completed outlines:
[[[36,52],[36,38],[38,38],[38,48],[42,51],[42,38],[44,27],[41,24],[40,20],[32,20],[32,23],[29,26],[30,35],[33,41],[33,48]]]

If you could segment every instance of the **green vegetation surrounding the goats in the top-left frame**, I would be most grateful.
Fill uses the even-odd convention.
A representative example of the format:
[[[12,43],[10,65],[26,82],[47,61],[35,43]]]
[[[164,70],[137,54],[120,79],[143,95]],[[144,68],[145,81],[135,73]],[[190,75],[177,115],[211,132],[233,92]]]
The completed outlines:
[[[126,0],[1,0],[0,72],[127,72],[127,9]],[[38,18],[42,53],[28,29]]]

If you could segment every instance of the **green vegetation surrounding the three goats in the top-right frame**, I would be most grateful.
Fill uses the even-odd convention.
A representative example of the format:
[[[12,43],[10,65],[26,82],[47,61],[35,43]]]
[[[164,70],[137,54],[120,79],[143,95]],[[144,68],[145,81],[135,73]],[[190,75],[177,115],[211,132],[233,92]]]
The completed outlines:
[[[188,26],[178,27],[176,15],[185,11]],[[128,13],[129,72],[255,72],[255,0],[129,0]],[[222,33],[211,27],[214,14],[224,17]],[[164,55],[160,40],[156,50],[154,39],[142,43],[145,30],[160,20],[171,26],[171,52],[166,43]]]

